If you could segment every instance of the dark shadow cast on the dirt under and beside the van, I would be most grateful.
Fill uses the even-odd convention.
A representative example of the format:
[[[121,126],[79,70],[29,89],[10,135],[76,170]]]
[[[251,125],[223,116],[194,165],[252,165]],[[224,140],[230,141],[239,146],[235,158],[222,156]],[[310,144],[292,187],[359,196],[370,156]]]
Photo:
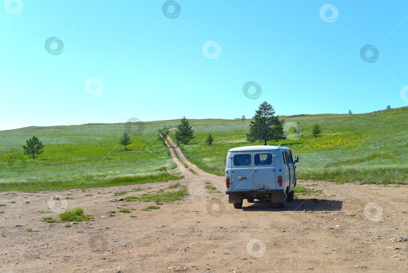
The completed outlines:
[[[287,202],[285,208],[280,208],[278,203],[255,201],[248,203],[244,200],[242,210],[244,211],[281,211],[281,210],[342,210],[343,201],[326,199],[295,199],[294,202]]]

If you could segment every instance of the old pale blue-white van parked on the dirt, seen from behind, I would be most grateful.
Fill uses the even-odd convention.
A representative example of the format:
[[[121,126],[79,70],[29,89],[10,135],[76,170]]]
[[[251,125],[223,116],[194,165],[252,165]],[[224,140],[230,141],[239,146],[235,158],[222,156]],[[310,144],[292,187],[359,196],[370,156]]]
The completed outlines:
[[[242,200],[279,203],[293,201],[298,156],[287,147],[256,145],[233,148],[225,156],[225,179],[229,203],[242,207]]]

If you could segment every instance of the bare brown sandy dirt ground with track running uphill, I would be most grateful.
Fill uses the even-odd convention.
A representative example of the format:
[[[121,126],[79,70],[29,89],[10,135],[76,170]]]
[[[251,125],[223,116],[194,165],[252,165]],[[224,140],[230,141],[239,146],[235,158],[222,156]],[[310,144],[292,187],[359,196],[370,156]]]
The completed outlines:
[[[0,206],[0,271],[408,271],[408,241],[390,241],[408,235],[408,213],[402,213],[408,211],[407,186],[300,181],[322,192],[288,202],[285,209],[246,200],[242,209],[234,209],[223,178],[199,170],[174,150],[196,173],[184,169],[170,149],[184,176],[177,182],[190,195],[152,211],[141,209],[154,202],[108,201],[164,189],[175,181],[85,192],[0,193],[0,204],[6,204]],[[206,182],[222,193],[210,193]],[[143,190],[113,197],[138,187]],[[53,200],[54,195],[73,199]],[[56,218],[60,207],[76,206],[95,215],[94,220],[54,226],[40,221]],[[118,206],[135,210],[122,213]]]

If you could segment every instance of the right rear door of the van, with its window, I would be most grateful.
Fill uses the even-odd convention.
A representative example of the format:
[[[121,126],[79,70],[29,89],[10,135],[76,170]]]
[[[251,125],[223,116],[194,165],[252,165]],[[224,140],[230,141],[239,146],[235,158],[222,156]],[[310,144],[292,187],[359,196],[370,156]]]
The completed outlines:
[[[275,151],[259,151],[252,154],[254,189],[276,189]]]

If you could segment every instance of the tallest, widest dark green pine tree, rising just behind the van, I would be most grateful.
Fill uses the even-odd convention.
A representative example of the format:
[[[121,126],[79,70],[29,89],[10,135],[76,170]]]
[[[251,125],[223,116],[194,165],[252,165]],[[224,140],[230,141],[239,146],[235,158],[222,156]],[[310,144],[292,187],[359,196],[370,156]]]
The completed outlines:
[[[259,105],[253,119],[249,125],[249,134],[246,134],[249,142],[262,140],[263,145],[266,145],[268,140],[285,139],[284,120],[281,120],[279,116],[275,116],[274,107],[266,101]]]

